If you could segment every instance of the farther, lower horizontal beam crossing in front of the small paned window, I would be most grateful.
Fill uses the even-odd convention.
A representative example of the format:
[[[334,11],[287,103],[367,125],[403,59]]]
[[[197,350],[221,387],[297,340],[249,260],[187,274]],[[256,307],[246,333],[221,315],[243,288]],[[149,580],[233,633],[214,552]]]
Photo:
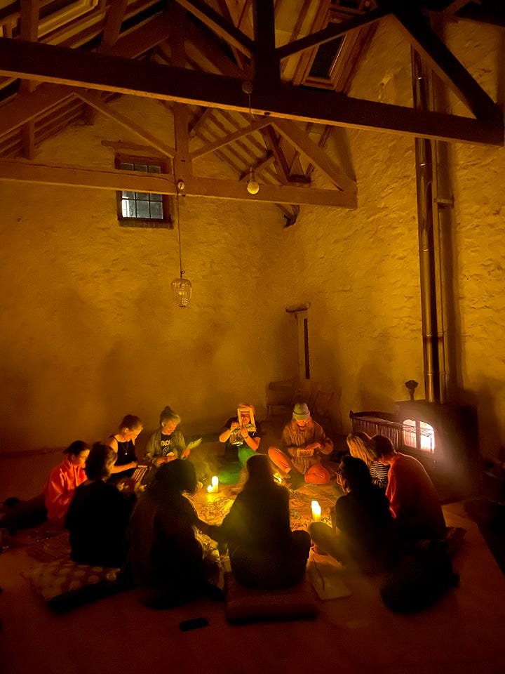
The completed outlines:
[[[86,166],[34,164],[12,159],[0,160],[0,180],[39,185],[85,187],[100,190],[126,190],[152,194],[176,194],[174,178],[168,173],[139,173],[89,169]],[[314,187],[290,185],[261,185],[258,194],[249,194],[243,183],[234,180],[189,177],[184,180],[183,194],[188,197],[235,199],[270,204],[309,204],[315,206],[341,206],[356,209],[356,195],[339,190],[320,190]]]

